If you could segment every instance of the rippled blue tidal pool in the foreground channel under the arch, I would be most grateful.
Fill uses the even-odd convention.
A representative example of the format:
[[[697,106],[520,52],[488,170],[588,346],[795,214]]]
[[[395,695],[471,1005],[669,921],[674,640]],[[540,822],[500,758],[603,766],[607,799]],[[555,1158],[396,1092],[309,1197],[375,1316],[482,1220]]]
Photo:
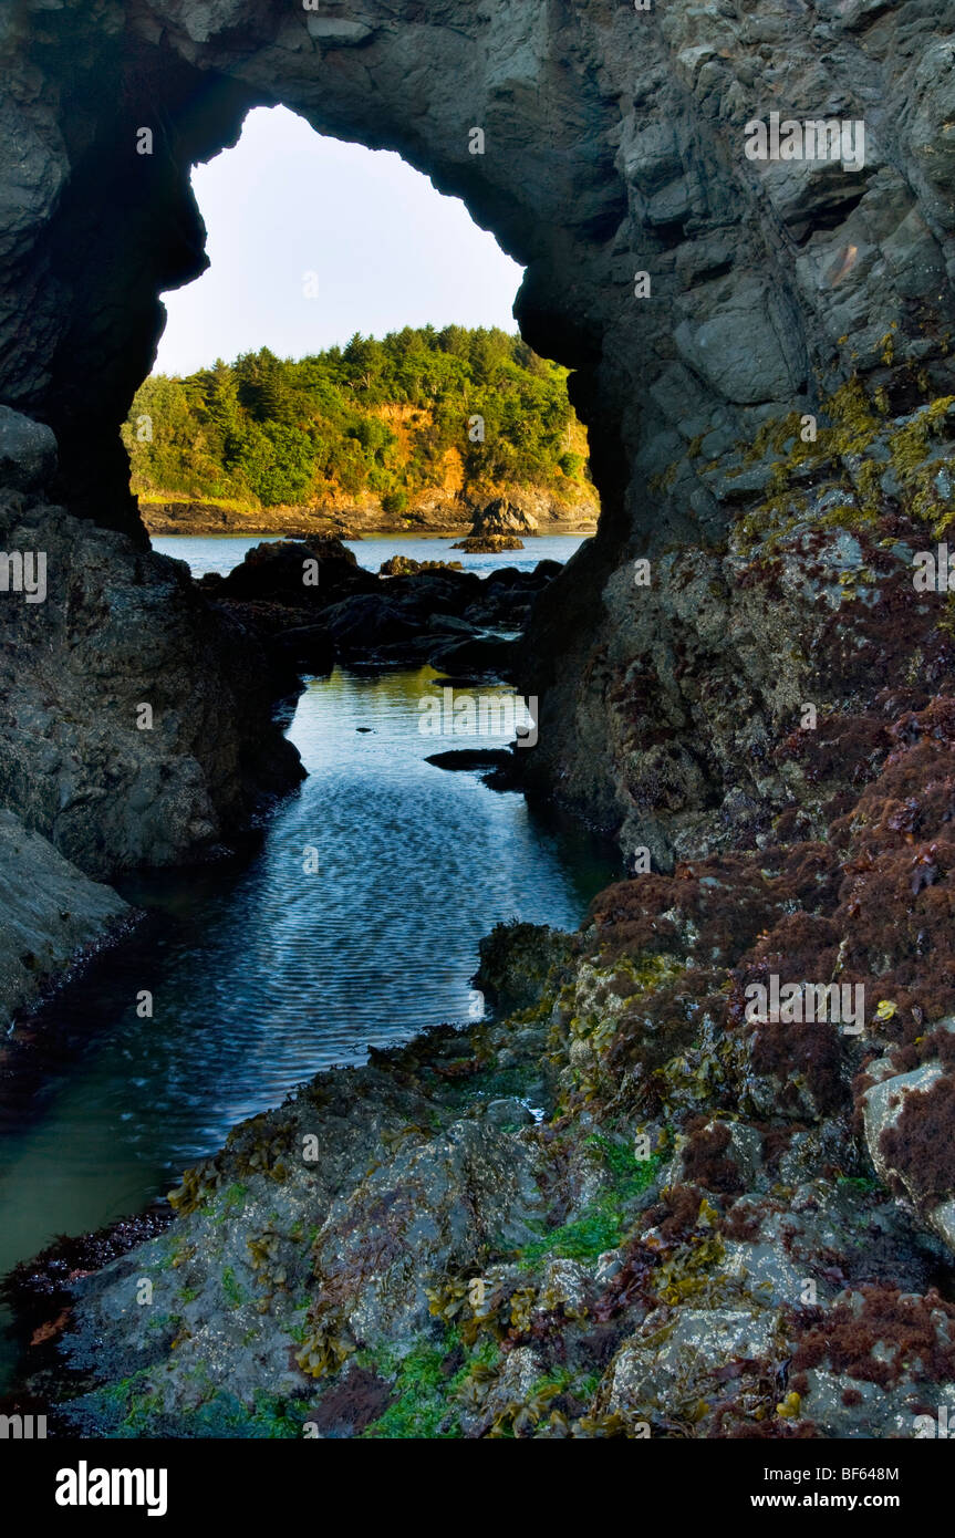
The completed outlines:
[[[506,741],[424,735],[435,677],[309,681],[289,731],[309,778],[255,847],[121,884],[148,929],[48,1010],[35,1092],[0,1110],[0,1273],[140,1210],[318,1069],[474,1018],[480,937],[512,917],[574,927],[617,875],[520,794],[426,763]]]

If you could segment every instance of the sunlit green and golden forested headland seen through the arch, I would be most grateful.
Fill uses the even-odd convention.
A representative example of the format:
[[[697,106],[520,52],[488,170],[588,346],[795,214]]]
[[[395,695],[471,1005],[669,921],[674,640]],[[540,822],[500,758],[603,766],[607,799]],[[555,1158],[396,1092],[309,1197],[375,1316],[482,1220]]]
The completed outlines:
[[[423,503],[452,521],[501,492],[567,517],[594,504],[567,371],[500,329],[404,328],[383,340],[278,358],[268,348],[185,378],[145,380],[123,438],[149,504],[254,512],[380,508],[400,526]],[[554,515],[554,514],[551,514]]]

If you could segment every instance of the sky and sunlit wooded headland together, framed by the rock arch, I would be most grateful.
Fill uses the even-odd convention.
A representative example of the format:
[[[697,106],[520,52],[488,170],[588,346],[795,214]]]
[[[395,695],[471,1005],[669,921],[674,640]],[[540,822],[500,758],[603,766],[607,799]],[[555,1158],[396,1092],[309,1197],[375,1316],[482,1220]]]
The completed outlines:
[[[566,371],[517,334],[523,269],[458,198],[285,108],[252,109],[191,192],[205,271],[163,292],[123,426],[148,528],[163,500],[223,523],[374,501],[423,534],[435,497],[595,508]]]

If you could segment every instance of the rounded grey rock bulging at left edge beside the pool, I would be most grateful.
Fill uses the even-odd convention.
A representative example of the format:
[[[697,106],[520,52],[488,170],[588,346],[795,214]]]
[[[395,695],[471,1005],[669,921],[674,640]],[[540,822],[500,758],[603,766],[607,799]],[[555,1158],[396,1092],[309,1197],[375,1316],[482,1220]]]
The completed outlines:
[[[0,529],[46,557],[45,601],[0,594],[0,801],[28,827],[108,877],[188,860],[297,783],[258,643],[185,563],[58,508],[11,503]]]

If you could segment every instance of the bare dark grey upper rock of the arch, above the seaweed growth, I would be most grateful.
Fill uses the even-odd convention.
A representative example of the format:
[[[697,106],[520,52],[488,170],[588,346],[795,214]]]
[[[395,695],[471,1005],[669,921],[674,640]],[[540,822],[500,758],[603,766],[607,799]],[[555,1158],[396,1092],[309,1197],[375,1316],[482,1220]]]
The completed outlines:
[[[720,546],[772,471],[737,455],[767,420],[824,420],[857,372],[895,415],[952,388],[953,20],[938,0],[26,0],[0,23],[0,395],[55,431],[69,509],[141,540],[117,428],[158,291],[206,260],[189,165],[274,102],[400,151],[526,263],[521,328],[577,369],[591,431],[601,532],[532,632],[532,772],[624,843],[672,849],[658,807],[638,826],[614,727],[634,661],[614,574]],[[746,123],[772,111],[861,122],[863,163],[749,160]],[[695,726],[678,818],[721,794]]]

